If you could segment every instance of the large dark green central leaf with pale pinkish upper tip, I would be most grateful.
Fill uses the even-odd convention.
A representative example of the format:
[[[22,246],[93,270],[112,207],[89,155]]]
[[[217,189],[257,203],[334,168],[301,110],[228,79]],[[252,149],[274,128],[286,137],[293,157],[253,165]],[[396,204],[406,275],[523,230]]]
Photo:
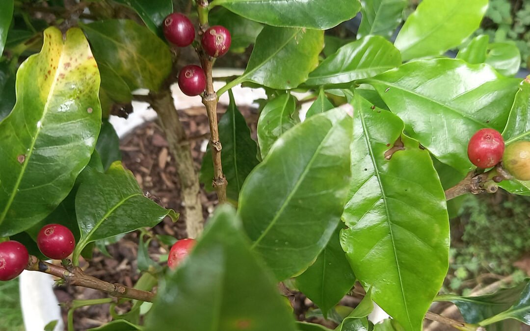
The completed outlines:
[[[308,118],[275,142],[243,184],[238,213],[277,280],[304,271],[337,227],[350,176],[351,129],[340,108]]]

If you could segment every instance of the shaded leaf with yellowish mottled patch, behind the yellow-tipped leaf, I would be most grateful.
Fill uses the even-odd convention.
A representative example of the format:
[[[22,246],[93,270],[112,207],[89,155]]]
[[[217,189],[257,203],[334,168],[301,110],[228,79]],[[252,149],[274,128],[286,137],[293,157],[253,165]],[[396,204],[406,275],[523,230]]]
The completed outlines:
[[[96,61],[119,75],[130,90],[158,91],[172,67],[167,45],[145,26],[130,20],[107,20],[81,24],[90,40]]]

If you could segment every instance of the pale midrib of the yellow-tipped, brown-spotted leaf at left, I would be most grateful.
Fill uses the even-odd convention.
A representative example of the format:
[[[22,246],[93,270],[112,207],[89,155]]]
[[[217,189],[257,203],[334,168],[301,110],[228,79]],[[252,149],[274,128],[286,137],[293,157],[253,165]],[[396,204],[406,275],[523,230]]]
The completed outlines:
[[[60,50],[61,51],[61,55],[59,56],[59,62],[57,63],[57,70],[55,70],[54,79],[52,80],[52,83],[51,83],[51,86],[50,86],[50,90],[48,92],[48,97],[46,98],[46,103],[45,103],[44,109],[42,111],[42,115],[39,118],[39,121],[41,123],[43,122],[43,119],[48,114],[50,98],[54,94],[53,91],[54,91],[55,85],[57,84],[57,81],[58,81],[57,77],[59,75],[59,72],[62,73],[62,71],[59,70],[59,68],[62,68],[61,64],[63,63],[64,53],[65,53],[64,52],[64,48],[65,48],[66,44],[65,43],[60,43],[60,45],[61,45],[61,50]],[[39,53],[39,56],[35,57],[34,61],[37,61],[40,56],[41,55]],[[5,219],[5,216],[7,214],[7,211],[11,208],[11,204],[13,203],[13,201],[15,199],[16,192],[19,189],[19,186],[20,186],[20,184],[22,182],[22,178],[24,177],[26,168],[28,167],[28,164],[30,162],[31,156],[33,155],[33,150],[34,150],[35,144],[37,142],[37,139],[39,138],[40,131],[42,130],[42,128],[43,128],[42,124],[41,124],[40,127],[37,127],[37,131],[35,132],[35,135],[33,136],[32,140],[31,140],[31,144],[30,144],[30,147],[29,147],[28,155],[26,155],[25,158],[24,158],[24,162],[22,164],[22,169],[21,169],[21,171],[19,173],[19,176],[16,178],[15,185],[13,186],[13,191],[11,191],[11,194],[9,196],[9,199],[7,200],[5,208],[2,211],[2,214],[0,214],[0,224],[2,224],[4,222],[4,219]]]

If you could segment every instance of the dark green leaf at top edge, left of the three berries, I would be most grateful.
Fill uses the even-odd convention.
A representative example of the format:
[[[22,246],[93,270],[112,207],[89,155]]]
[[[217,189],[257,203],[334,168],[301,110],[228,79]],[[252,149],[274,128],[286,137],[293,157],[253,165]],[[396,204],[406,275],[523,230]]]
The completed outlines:
[[[172,0],[114,0],[134,9],[149,30],[163,38],[162,23],[173,13]]]

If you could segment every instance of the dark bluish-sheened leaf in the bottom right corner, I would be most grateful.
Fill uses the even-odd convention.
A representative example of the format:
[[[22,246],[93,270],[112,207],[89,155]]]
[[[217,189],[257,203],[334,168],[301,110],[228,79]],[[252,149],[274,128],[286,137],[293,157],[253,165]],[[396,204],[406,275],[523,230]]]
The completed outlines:
[[[466,323],[476,324],[513,306],[528,283],[526,280],[516,287],[500,289],[493,294],[478,297],[446,294],[438,296],[436,301],[453,302],[460,310]]]

